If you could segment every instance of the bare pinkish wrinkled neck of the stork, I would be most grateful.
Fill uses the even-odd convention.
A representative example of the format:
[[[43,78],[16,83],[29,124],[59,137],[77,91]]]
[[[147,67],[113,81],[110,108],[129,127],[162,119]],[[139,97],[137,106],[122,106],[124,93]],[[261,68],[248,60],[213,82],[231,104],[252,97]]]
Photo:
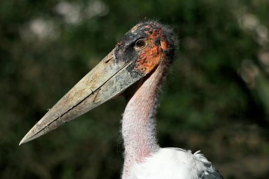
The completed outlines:
[[[128,101],[122,118],[124,166],[122,179],[130,168],[159,150],[156,138],[156,108],[160,83],[166,70],[159,65]]]

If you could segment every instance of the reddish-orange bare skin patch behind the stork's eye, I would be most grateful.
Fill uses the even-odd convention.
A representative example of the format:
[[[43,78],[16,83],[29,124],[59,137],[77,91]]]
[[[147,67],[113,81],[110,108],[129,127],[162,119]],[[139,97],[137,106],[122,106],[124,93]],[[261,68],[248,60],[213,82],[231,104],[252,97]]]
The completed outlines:
[[[160,45],[155,44],[155,39],[162,38],[160,29],[145,31],[145,33],[148,34],[147,47],[140,52],[135,69],[148,74],[159,64],[163,57],[163,50],[167,49],[168,43],[160,41]]]

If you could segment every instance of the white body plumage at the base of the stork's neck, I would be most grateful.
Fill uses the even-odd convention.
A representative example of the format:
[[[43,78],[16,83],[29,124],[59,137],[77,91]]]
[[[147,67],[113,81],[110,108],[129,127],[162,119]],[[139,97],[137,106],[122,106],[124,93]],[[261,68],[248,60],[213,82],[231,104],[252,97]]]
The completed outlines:
[[[207,158],[197,151],[160,148],[157,153],[135,164],[130,179],[223,179]]]

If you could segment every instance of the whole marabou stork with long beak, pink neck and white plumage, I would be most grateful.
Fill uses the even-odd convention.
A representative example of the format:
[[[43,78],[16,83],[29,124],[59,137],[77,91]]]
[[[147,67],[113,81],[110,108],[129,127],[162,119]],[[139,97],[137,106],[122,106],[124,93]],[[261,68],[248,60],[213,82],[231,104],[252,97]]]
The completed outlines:
[[[156,104],[173,62],[177,38],[156,21],[138,24],[98,65],[57,102],[20,142],[33,140],[90,109],[124,96],[122,179],[222,179],[200,151],[160,148]]]

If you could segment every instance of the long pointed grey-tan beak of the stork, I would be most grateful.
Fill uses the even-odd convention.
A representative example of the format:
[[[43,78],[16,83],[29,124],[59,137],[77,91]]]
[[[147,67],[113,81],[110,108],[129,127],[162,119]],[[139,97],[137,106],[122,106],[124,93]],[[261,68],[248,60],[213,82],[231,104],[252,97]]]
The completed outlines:
[[[122,93],[144,76],[133,70],[135,60],[119,60],[111,51],[83,77],[24,136],[19,145],[33,140]]]

